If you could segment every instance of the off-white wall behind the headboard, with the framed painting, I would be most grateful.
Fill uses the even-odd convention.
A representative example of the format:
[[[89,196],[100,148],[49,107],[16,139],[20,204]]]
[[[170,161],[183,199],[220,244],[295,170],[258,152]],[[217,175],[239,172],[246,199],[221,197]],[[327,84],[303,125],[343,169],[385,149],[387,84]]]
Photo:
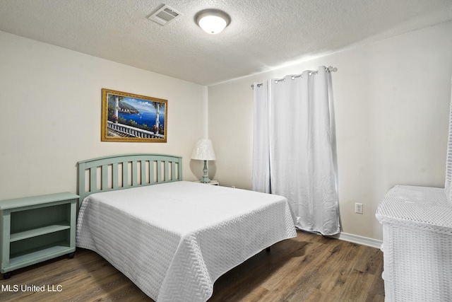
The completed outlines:
[[[0,199],[76,192],[77,161],[109,154],[180,155],[184,179],[201,176],[206,86],[1,31],[0,45]],[[102,88],[168,100],[167,143],[100,141]]]

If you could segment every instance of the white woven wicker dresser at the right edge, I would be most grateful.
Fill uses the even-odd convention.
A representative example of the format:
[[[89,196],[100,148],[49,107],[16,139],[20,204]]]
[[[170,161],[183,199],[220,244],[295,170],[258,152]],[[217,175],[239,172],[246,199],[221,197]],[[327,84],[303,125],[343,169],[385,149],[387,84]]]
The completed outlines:
[[[397,185],[383,223],[385,301],[452,301],[452,206],[444,189]]]

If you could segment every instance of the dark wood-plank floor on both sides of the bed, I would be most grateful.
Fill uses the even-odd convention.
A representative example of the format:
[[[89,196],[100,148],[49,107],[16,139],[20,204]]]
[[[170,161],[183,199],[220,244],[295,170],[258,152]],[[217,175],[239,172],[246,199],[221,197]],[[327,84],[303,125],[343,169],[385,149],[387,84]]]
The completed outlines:
[[[297,232],[220,277],[209,302],[384,301],[382,270],[379,249]],[[102,257],[83,249],[73,259],[18,269],[0,286],[0,301],[153,301]],[[24,286],[35,289],[23,291]]]

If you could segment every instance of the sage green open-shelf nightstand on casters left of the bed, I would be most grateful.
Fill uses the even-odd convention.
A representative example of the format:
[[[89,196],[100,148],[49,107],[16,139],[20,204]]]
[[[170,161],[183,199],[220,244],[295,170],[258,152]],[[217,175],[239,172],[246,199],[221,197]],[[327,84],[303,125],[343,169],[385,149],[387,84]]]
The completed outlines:
[[[76,251],[78,195],[64,192],[0,201],[0,257],[11,271]]]

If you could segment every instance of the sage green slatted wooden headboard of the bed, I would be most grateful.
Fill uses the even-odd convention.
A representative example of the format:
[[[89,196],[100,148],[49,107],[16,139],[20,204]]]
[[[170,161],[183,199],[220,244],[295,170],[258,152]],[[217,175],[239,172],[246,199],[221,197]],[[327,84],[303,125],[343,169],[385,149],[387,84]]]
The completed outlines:
[[[123,154],[77,164],[79,206],[89,194],[182,180],[182,156]]]

